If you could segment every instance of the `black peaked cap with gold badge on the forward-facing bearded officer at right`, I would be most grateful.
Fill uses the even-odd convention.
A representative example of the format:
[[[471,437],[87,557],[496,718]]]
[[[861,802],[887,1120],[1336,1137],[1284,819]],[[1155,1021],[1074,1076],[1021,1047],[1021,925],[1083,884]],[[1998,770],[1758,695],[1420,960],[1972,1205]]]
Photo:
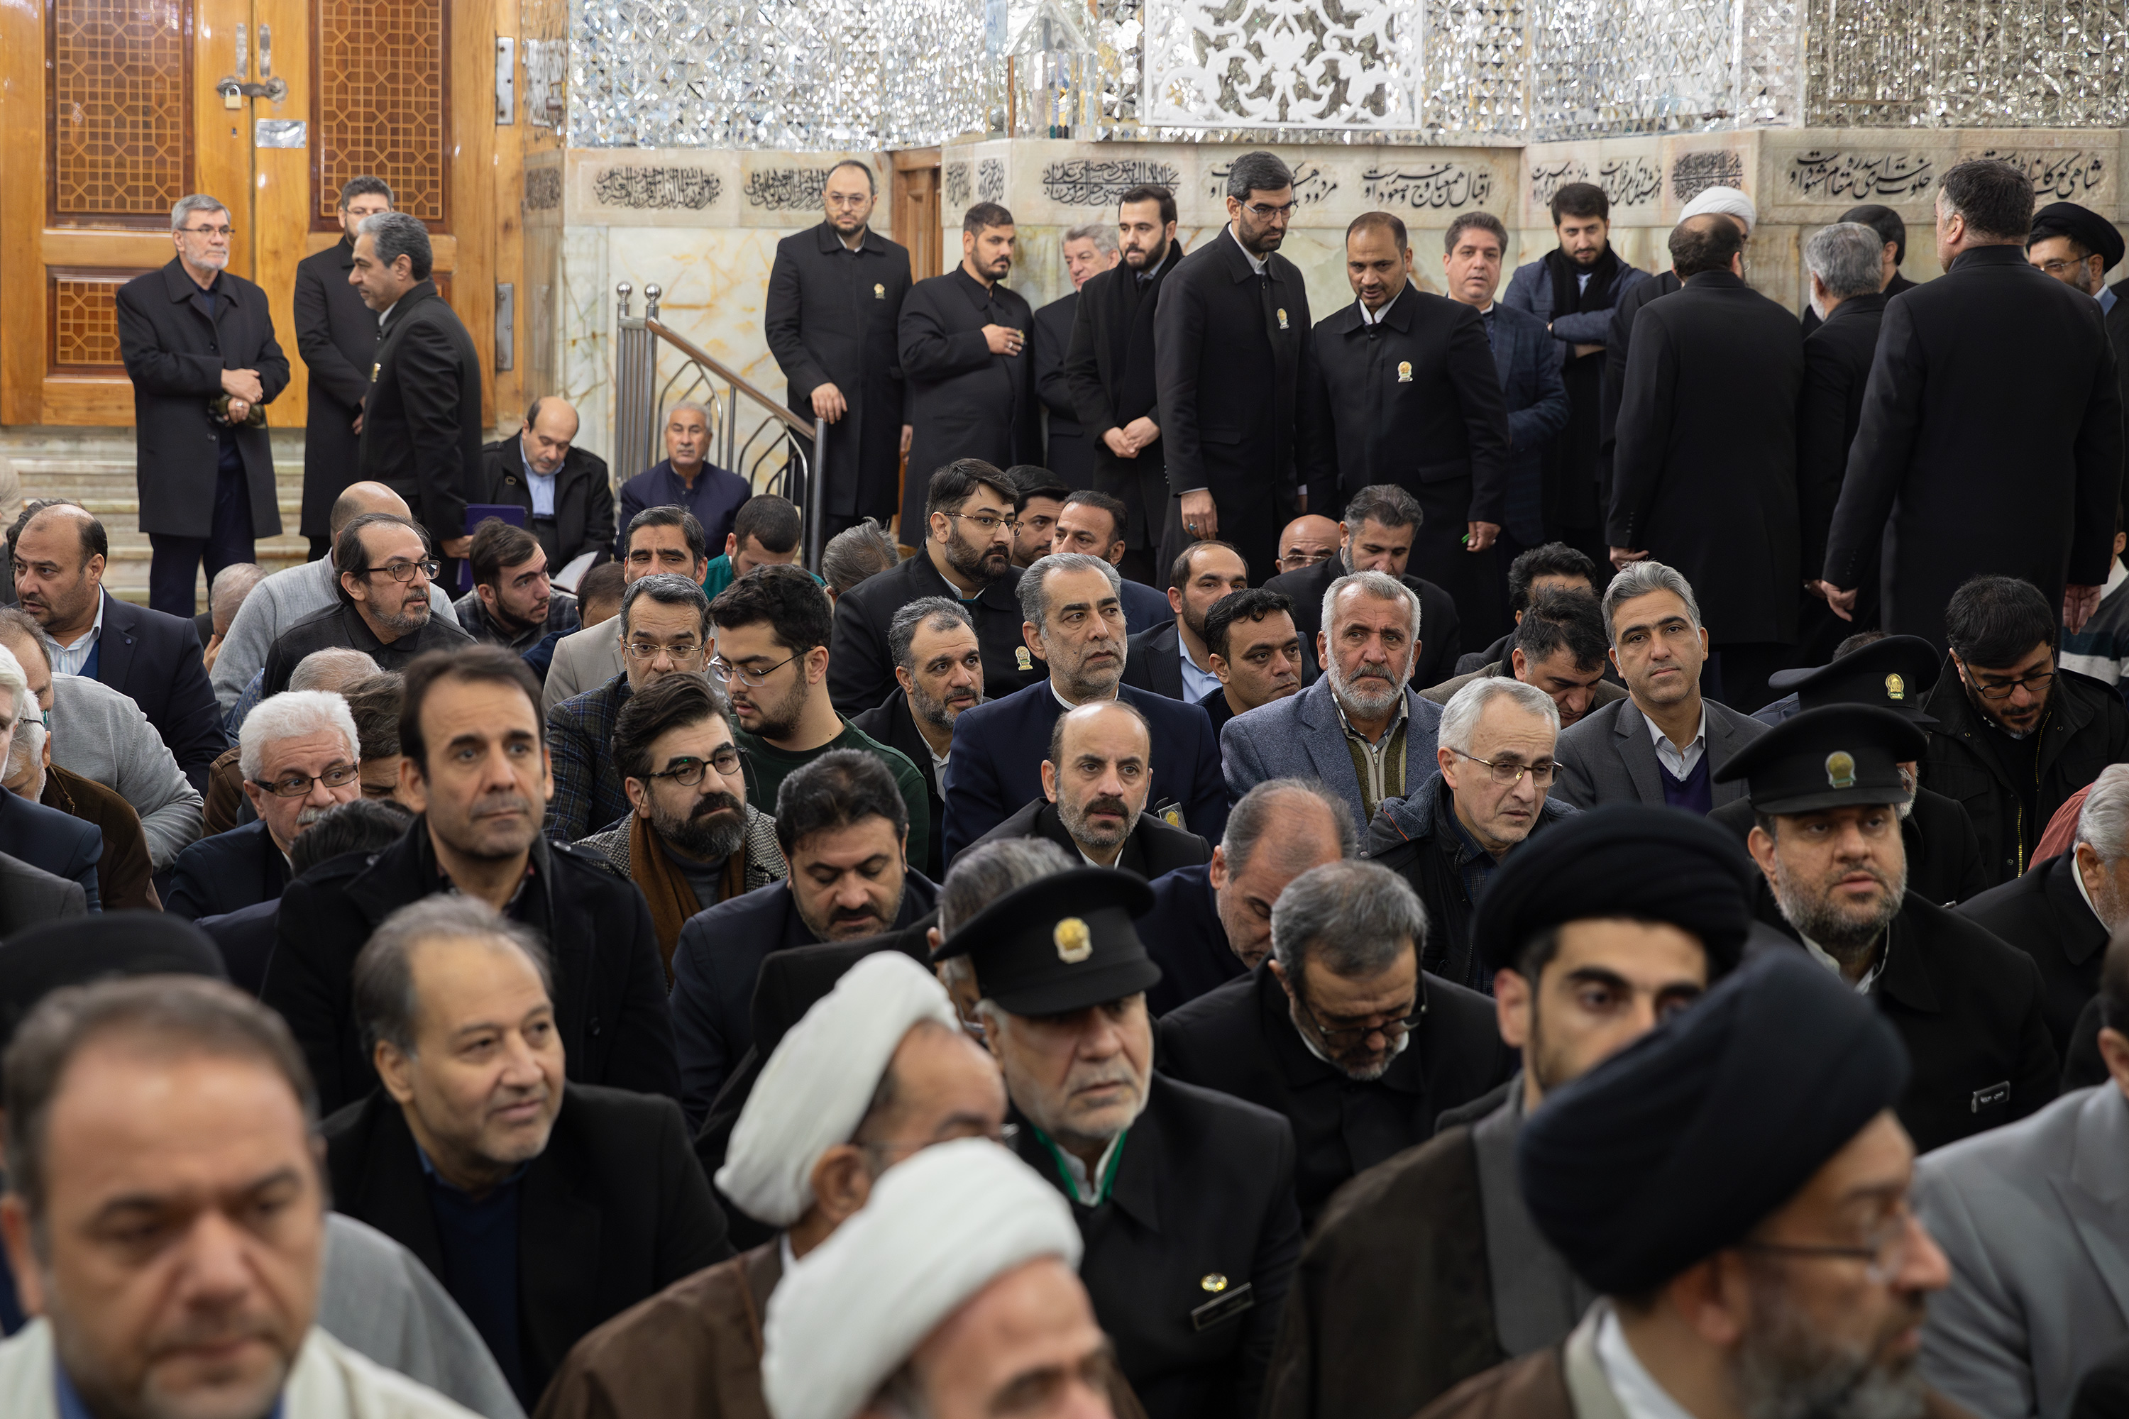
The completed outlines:
[[[1874,704],[1827,704],[1773,725],[1716,770],[1718,783],[1750,781],[1759,813],[1818,813],[1859,804],[1903,804],[1899,777],[1929,736]]]

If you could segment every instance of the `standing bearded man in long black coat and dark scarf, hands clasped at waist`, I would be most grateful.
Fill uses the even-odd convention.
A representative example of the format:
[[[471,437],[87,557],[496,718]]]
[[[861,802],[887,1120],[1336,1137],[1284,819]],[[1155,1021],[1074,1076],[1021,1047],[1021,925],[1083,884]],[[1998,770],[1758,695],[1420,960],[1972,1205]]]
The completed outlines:
[[[1184,260],[1175,240],[1175,194],[1139,185],[1116,204],[1122,264],[1092,277],[1079,296],[1064,379],[1082,434],[1094,443],[1094,487],[1124,502],[1126,577],[1150,581],[1160,551],[1182,532],[1169,521],[1167,449],[1154,381],[1154,306],[1160,283]]]

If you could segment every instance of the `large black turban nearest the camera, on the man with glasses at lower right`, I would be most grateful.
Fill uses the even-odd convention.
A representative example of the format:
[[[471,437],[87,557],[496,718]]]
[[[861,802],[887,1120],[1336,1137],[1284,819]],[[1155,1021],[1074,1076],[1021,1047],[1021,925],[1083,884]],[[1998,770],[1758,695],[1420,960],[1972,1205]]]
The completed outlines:
[[[1546,1096],[1516,1140],[1522,1200],[1592,1289],[1646,1291],[1746,1236],[1905,1087],[1871,1000],[1765,951]]]

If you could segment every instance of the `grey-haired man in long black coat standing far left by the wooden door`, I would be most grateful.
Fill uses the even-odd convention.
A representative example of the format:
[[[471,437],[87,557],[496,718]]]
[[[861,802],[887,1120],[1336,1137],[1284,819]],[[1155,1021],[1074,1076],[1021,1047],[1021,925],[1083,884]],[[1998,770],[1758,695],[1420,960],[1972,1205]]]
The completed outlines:
[[[141,530],[155,547],[149,604],[198,611],[194,581],[253,562],[281,536],[266,404],[287,387],[266,291],[230,264],[230,211],[207,194],[170,208],[177,255],[117,291],[119,351],[134,385]]]

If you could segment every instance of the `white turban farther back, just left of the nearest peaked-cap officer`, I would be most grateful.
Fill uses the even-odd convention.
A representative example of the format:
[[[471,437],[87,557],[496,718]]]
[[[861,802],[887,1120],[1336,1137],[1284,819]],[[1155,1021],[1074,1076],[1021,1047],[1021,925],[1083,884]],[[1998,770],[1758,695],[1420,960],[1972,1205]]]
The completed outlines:
[[[918,1021],[960,1030],[945,987],[901,951],[843,972],[783,1036],[732,1125],[717,1187],[747,1217],[788,1228],[813,1204],[813,1164],[849,1142],[888,1059]]]

